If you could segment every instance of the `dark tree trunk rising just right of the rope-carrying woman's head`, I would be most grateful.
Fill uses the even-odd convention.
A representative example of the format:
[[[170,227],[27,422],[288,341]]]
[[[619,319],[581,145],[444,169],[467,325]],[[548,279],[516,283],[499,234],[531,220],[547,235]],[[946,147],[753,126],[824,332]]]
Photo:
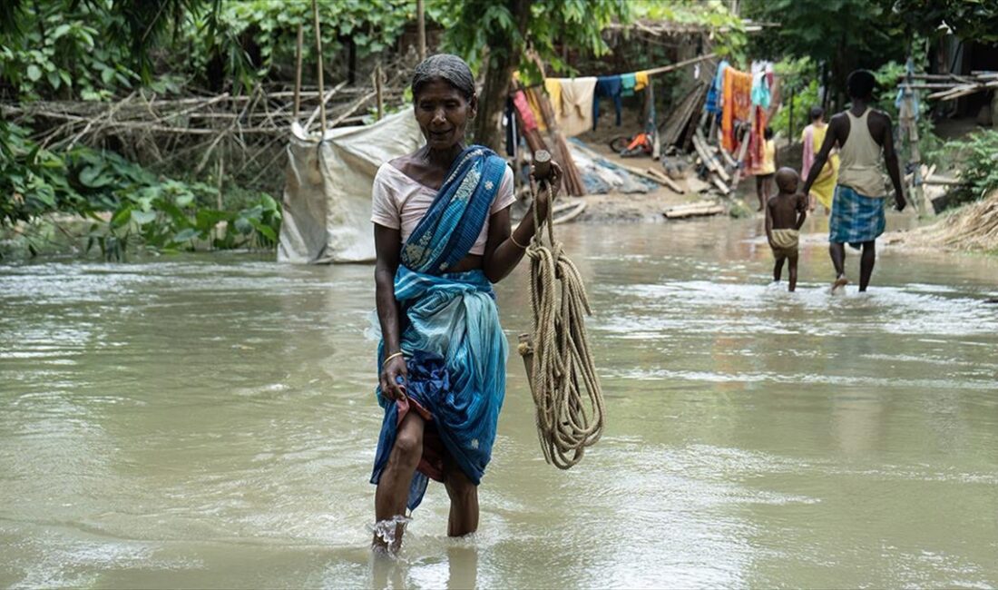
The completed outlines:
[[[530,0],[507,0],[510,14],[520,30],[520,39],[526,38],[530,17]],[[510,43],[507,36],[489,39],[489,60],[485,69],[485,85],[478,95],[478,115],[475,119],[476,144],[499,152],[502,148],[502,112],[506,107],[513,71],[520,65],[523,55],[522,41]]]

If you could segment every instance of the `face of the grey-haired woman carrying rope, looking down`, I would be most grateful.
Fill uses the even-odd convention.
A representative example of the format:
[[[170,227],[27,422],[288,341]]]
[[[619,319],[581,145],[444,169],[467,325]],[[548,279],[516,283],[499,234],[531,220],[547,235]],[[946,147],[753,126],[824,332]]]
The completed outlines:
[[[446,150],[464,141],[468,120],[478,108],[477,97],[468,101],[444,80],[433,80],[419,90],[416,121],[432,150]]]

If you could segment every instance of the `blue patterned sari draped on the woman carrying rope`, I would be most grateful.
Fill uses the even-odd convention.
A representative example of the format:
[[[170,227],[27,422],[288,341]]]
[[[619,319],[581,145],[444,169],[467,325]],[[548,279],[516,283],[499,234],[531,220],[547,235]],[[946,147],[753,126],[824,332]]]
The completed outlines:
[[[429,418],[426,438],[438,436],[448,458],[473,483],[481,481],[489,463],[506,390],[508,344],[485,274],[447,269],[474,246],[505,172],[506,162],[488,148],[466,148],[402,245],[394,292],[402,309],[399,329],[408,399],[395,401],[382,395],[380,386],[377,389],[384,418],[371,483],[380,479],[398,425],[412,409]],[[383,358],[382,338],[379,369]],[[422,501],[430,477],[442,478],[443,457],[427,457],[429,446],[424,441],[423,460],[409,488],[409,510]]]

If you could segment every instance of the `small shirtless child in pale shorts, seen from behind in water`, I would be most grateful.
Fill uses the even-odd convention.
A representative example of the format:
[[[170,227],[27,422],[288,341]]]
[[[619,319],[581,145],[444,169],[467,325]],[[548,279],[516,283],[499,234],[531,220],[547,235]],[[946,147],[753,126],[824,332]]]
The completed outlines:
[[[800,226],[807,219],[807,197],[797,194],[800,177],[792,168],[776,171],[776,188],[779,192],[770,197],[765,205],[765,237],[772,249],[776,264],[772,269],[772,280],[779,283],[783,272],[783,261],[789,262],[790,291],[797,288],[797,246],[800,241]]]

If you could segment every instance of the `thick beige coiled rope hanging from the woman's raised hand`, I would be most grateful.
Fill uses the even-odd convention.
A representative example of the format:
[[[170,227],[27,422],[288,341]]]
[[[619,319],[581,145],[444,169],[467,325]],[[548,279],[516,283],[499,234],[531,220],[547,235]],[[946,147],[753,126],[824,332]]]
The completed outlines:
[[[536,230],[527,247],[533,334],[520,336],[518,351],[528,366],[544,458],[568,469],[600,439],[606,412],[586,336],[585,316],[593,313],[589,297],[579,270],[555,241],[551,210],[556,191],[546,181],[540,190],[547,191],[547,217],[541,220],[532,208]],[[547,244],[542,221],[547,222]]]

